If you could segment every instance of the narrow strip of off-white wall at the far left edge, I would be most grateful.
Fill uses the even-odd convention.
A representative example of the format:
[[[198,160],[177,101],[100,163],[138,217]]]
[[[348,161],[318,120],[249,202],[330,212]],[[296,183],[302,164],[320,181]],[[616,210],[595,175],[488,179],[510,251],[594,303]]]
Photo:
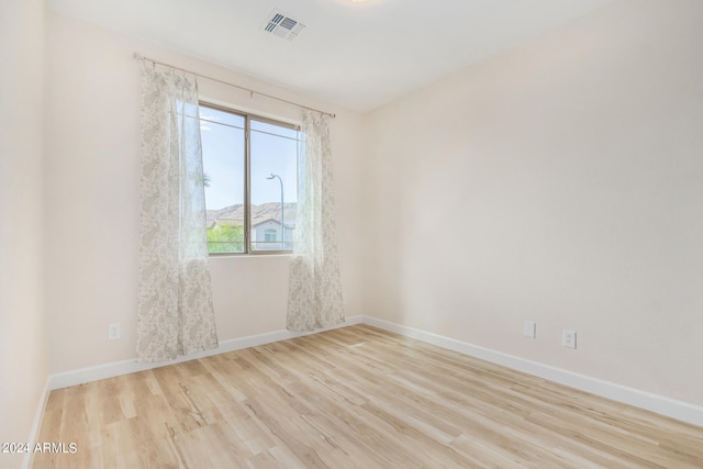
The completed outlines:
[[[44,2],[0,2],[0,442],[26,442],[46,383]],[[22,455],[0,454],[0,467]]]

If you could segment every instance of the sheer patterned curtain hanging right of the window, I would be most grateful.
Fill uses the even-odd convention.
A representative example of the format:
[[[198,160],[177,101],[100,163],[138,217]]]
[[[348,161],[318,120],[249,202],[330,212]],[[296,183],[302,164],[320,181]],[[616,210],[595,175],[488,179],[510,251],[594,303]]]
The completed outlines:
[[[288,328],[314,331],[344,322],[327,118],[303,110],[298,209],[288,295]]]

